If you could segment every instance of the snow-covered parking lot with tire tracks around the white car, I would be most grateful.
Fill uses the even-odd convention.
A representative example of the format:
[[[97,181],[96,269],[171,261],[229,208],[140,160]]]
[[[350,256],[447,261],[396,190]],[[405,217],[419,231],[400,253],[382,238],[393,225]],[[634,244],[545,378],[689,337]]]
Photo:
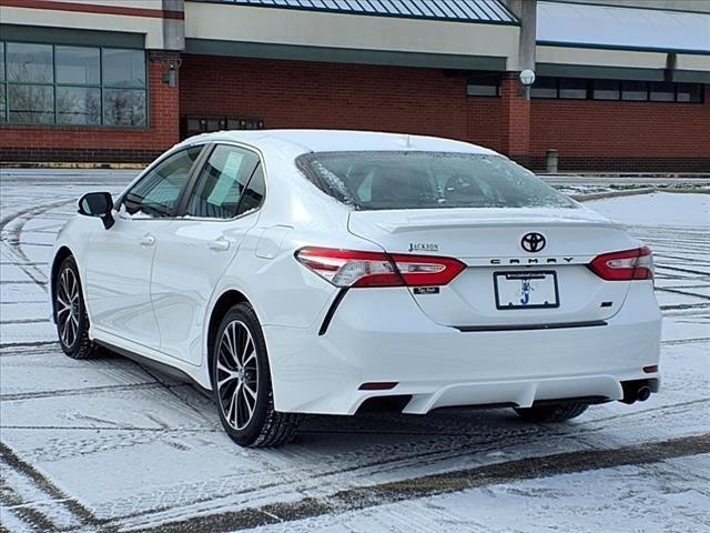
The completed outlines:
[[[79,194],[134,173],[2,170],[0,531],[710,531],[710,194],[588,204],[656,252],[649,401],[557,426],[506,410],[314,416],[292,445],[245,450],[190,384],[55,343],[54,234]]]

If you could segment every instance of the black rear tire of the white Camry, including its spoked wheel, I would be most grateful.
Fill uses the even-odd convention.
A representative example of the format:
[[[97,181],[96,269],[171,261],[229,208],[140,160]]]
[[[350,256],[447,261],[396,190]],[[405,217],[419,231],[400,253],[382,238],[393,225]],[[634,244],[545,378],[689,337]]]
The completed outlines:
[[[250,350],[250,339],[253,350]],[[250,447],[272,447],[291,442],[301,415],[274,410],[266,343],[252,306],[247,303],[232,306],[213,341],[210,358],[212,391],[227,435],[237,444]],[[243,350],[237,351],[241,355],[232,356],[233,352],[227,345],[230,342],[233,346],[241,346],[242,342],[245,344]],[[256,392],[255,399],[248,392],[253,390]]]

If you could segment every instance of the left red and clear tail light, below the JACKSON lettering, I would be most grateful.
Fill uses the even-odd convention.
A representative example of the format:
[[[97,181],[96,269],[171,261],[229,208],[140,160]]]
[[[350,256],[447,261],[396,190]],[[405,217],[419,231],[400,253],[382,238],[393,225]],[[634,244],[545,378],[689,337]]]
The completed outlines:
[[[298,262],[336,286],[446,285],[466,265],[453,258],[302,248]]]

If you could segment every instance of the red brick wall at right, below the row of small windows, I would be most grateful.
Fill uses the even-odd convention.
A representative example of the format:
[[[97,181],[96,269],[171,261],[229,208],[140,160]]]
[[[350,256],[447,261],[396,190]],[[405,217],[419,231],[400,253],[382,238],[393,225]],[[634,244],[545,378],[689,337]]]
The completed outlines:
[[[532,100],[530,155],[554,148],[567,168],[608,168],[627,159],[630,167],[668,160],[710,171],[710,86],[704,97],[702,104]]]

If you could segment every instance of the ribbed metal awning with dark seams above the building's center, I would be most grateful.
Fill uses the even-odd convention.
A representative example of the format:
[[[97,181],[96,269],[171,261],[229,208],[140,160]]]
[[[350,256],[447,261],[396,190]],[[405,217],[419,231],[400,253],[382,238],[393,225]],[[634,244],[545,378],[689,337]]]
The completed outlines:
[[[517,24],[500,0],[193,0],[375,17]]]

